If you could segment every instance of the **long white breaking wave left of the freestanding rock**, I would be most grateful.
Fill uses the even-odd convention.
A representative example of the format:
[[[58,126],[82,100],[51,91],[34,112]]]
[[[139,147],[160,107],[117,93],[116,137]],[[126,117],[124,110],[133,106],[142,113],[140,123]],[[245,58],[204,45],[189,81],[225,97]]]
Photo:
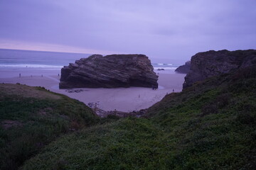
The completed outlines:
[[[0,68],[61,69],[63,66],[44,64],[0,64]]]

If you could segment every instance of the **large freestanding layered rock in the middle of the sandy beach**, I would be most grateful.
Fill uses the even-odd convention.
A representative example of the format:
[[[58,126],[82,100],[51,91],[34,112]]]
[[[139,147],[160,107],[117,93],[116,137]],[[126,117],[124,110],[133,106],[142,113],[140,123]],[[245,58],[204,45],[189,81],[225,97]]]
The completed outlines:
[[[158,86],[146,55],[91,55],[61,69],[60,89]]]

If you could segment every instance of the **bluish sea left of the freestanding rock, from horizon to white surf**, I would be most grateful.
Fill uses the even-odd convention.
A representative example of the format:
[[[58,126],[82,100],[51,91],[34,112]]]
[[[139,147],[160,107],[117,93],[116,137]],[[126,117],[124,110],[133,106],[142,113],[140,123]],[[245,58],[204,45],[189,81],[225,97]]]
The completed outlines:
[[[0,49],[1,68],[61,69],[90,54]]]

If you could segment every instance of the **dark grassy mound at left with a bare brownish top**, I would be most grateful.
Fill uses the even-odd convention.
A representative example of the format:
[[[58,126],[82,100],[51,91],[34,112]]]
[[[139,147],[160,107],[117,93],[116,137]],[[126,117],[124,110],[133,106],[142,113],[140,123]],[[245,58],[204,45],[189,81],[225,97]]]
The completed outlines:
[[[96,122],[90,108],[67,96],[0,84],[0,169],[17,169],[56,137]]]

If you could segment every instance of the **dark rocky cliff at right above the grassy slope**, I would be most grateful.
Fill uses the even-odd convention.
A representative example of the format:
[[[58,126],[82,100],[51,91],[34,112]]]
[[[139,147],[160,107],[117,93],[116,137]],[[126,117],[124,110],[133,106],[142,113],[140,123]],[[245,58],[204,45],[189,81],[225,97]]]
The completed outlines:
[[[185,77],[183,88],[208,77],[225,74],[233,69],[256,64],[256,50],[220,50],[199,52],[191,57],[191,69]]]

